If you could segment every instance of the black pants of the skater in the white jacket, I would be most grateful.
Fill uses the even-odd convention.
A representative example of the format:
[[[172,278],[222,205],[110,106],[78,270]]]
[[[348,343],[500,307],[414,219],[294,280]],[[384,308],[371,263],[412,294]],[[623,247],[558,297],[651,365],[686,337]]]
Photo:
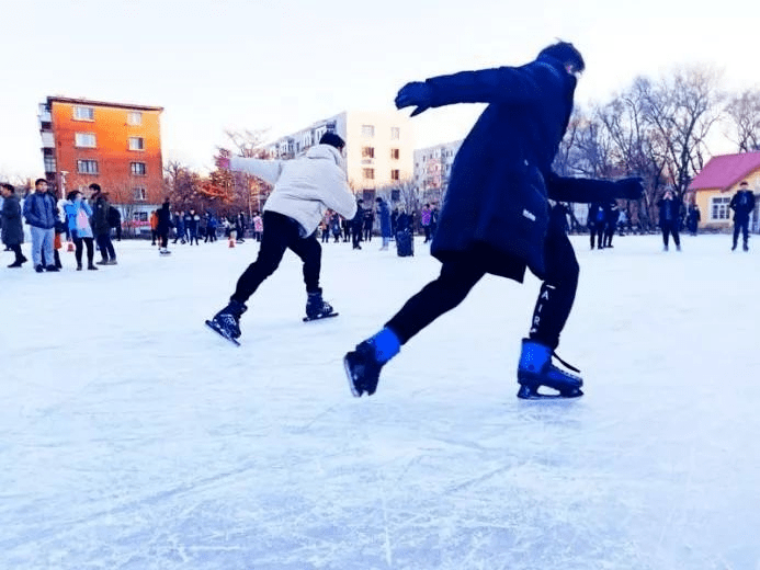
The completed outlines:
[[[290,249],[304,262],[304,283],[306,293],[319,289],[319,271],[322,262],[322,247],[317,240],[317,232],[300,237],[300,225],[276,212],[264,212],[264,231],[261,237],[259,256],[240,275],[234,300],[246,303],[259,288],[259,285],[280,266],[285,250]]]

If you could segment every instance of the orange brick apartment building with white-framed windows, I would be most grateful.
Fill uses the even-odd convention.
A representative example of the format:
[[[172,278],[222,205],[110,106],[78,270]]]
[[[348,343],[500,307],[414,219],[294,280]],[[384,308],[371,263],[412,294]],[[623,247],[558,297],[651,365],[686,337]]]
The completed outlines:
[[[39,104],[45,178],[59,197],[97,182],[125,209],[160,204],[163,107],[48,96]],[[135,208],[135,206],[137,206]]]

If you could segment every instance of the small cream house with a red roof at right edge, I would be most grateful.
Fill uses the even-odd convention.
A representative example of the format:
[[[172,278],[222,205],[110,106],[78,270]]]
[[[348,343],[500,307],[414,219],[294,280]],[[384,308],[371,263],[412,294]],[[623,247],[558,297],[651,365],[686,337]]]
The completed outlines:
[[[700,228],[727,229],[733,227],[733,213],[728,209],[731,196],[742,181],[757,196],[760,192],[760,152],[741,152],[739,155],[721,155],[711,158],[694,180],[689,184],[689,194],[693,196],[702,214]],[[760,218],[760,200],[750,217],[750,229],[758,231]]]

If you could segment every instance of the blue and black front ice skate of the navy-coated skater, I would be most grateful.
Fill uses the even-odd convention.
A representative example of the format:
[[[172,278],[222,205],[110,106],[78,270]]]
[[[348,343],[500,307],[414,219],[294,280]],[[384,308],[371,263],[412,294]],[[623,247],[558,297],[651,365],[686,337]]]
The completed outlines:
[[[520,384],[518,398],[537,400],[583,396],[580,390],[583,379],[557,368],[552,364],[552,355],[553,351],[548,346],[530,339],[522,340],[522,354],[518,365],[518,383]],[[579,372],[567,364],[566,366]],[[556,390],[558,394],[541,394],[538,388],[542,386]]]

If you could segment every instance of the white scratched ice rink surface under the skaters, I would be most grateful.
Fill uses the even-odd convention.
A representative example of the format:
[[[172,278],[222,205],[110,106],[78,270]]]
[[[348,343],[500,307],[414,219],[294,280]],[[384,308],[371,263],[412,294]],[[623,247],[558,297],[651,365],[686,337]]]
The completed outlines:
[[[760,241],[589,251],[558,353],[586,396],[515,398],[538,282],[486,277],[377,394],[343,354],[440,264],[287,253],[242,346],[203,321],[258,246],[116,243],[98,272],[0,255],[0,568],[760,569]],[[24,246],[29,252],[29,246]]]

